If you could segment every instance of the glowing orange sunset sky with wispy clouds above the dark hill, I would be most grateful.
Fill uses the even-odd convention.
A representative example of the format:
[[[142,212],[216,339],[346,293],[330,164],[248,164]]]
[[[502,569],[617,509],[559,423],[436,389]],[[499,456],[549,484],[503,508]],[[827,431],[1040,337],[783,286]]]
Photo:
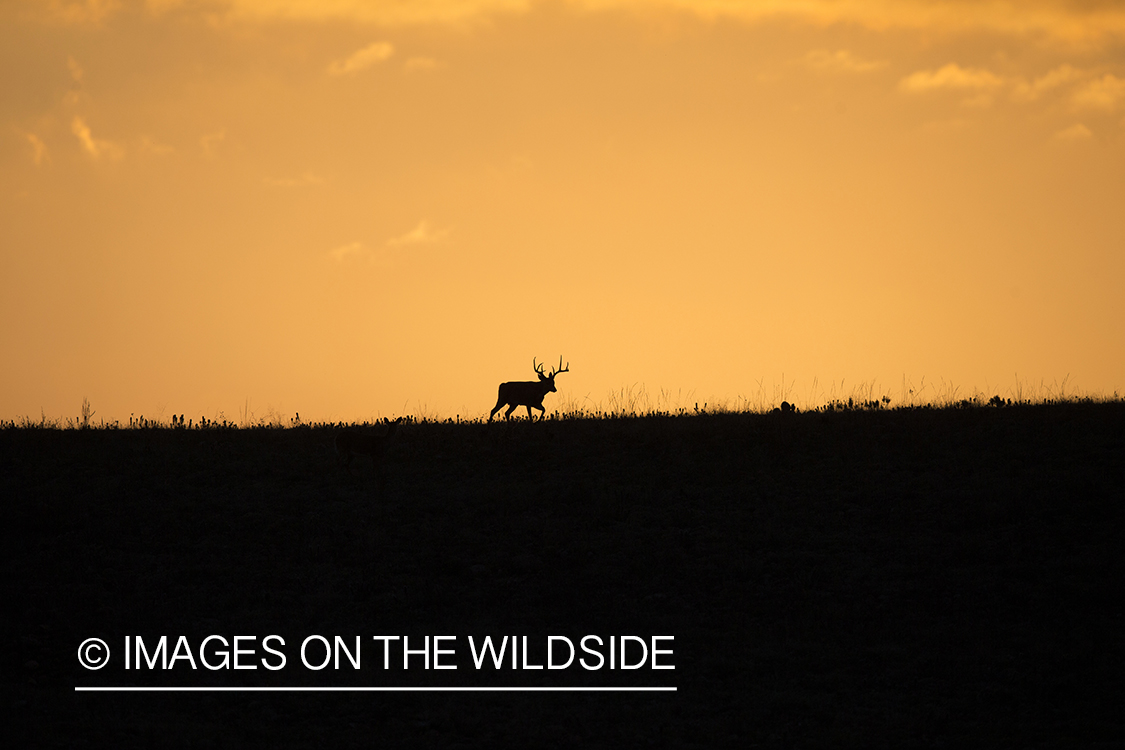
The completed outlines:
[[[1125,394],[1116,0],[4,0],[0,120],[4,419]]]

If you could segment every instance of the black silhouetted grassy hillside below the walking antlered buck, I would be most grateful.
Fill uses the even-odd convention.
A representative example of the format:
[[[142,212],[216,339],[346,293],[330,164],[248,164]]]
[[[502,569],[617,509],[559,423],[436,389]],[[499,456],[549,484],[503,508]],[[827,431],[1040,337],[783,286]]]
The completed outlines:
[[[333,434],[0,430],[10,747],[1125,743],[1120,403],[407,424],[381,487]],[[213,634],[287,666],[122,663]],[[312,634],[362,636],[361,669],[306,669]],[[475,669],[467,636],[505,634],[531,663],[674,635],[675,669]],[[384,670],[372,635],[456,635],[458,669]]]

